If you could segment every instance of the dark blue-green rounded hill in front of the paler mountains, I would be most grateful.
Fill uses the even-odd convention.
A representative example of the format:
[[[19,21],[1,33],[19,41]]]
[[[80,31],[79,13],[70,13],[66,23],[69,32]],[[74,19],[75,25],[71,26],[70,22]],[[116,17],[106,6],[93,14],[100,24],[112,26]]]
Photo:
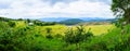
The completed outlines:
[[[65,24],[65,25],[75,25],[75,24],[82,23],[82,22],[84,22],[84,21],[82,21],[80,18],[69,18],[69,20],[61,21],[58,23]]]

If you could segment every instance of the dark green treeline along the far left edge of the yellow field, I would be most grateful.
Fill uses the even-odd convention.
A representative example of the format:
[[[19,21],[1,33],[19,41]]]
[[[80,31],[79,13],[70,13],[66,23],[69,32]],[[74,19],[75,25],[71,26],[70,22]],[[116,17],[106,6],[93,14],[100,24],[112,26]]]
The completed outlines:
[[[49,25],[56,25],[56,22],[41,22],[38,20],[23,20],[23,18],[17,18],[17,20],[12,20],[12,18],[6,18],[6,17],[0,17],[1,22],[10,22],[9,24],[11,26],[14,26],[16,22],[23,21],[25,22],[27,25],[37,25],[37,26],[49,26]]]

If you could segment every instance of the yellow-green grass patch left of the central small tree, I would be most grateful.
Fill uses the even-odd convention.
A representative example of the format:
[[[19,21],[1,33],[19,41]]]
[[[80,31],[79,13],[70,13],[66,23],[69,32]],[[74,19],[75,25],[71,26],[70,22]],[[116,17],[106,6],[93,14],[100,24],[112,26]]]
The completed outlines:
[[[56,34],[64,35],[64,33],[67,30],[67,27],[65,25],[53,25],[53,26],[36,26],[35,30],[39,30],[40,34],[44,35],[47,34],[47,28],[52,28],[51,33],[53,34],[52,36]]]

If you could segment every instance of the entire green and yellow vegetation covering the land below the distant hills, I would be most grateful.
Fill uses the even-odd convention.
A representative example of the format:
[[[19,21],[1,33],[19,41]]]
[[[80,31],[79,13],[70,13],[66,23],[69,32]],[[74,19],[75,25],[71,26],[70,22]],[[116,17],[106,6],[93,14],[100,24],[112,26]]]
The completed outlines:
[[[39,26],[28,25],[23,21],[0,22],[1,51],[128,51],[130,50],[130,25],[121,28],[110,25],[107,33],[95,35],[99,29],[105,30],[109,25]],[[104,27],[104,28],[103,28]],[[99,29],[98,29],[99,28]],[[66,29],[66,30],[63,30]],[[58,31],[61,30],[61,31]],[[96,31],[98,30],[98,31]],[[58,31],[58,33],[56,33]],[[54,34],[56,33],[56,34]],[[64,34],[64,35],[63,35]],[[104,34],[104,35],[103,35]]]

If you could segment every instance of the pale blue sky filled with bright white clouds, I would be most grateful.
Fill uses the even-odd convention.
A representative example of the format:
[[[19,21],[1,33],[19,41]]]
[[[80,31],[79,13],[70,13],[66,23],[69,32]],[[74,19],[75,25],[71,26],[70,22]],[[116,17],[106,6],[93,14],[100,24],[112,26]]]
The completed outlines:
[[[0,16],[10,18],[113,18],[112,0],[0,0]]]

